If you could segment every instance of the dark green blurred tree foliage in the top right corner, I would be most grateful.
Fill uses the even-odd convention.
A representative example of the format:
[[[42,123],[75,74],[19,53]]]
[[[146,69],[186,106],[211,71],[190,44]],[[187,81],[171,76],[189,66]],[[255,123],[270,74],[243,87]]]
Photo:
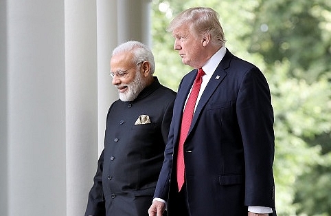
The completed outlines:
[[[326,0],[261,0],[255,8],[249,52],[266,64],[290,61],[289,75],[314,82],[331,71],[331,3]]]

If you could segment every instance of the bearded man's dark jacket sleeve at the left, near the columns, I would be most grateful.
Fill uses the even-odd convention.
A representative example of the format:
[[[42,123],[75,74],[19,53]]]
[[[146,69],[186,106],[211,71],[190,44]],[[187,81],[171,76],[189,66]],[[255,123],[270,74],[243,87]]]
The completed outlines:
[[[87,210],[85,216],[102,216],[106,215],[104,193],[102,191],[102,169],[104,164],[104,151],[102,151],[98,160],[97,173],[93,178],[94,184],[89,192],[89,199],[87,202]]]

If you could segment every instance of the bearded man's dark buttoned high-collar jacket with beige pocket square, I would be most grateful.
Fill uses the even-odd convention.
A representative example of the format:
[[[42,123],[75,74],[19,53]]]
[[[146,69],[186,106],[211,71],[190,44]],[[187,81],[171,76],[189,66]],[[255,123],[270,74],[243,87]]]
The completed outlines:
[[[155,77],[134,101],[113,102],[85,215],[147,214],[163,162],[175,97],[176,93]],[[150,123],[136,123],[141,115],[148,116]]]

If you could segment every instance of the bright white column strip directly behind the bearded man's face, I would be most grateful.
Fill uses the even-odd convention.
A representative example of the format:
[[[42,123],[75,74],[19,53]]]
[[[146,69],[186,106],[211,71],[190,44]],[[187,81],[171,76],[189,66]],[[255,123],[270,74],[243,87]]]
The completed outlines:
[[[109,75],[111,52],[117,46],[117,10],[116,0],[97,1],[97,38],[98,38],[98,155],[94,155],[96,164],[102,149],[104,149],[104,130],[106,116],[111,103],[118,99],[117,89],[111,84]]]

